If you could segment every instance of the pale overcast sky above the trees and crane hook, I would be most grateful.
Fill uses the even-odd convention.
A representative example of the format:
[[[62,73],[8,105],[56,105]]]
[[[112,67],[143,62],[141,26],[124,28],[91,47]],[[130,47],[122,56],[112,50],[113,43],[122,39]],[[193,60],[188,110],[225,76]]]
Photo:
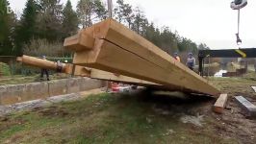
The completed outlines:
[[[9,0],[14,12],[22,12],[26,0]],[[78,0],[71,0],[75,8]],[[106,0],[107,1],[107,0]],[[115,0],[113,0],[115,3]],[[63,3],[66,0],[62,0]],[[237,11],[231,0],[124,0],[139,6],[157,26],[168,26],[181,36],[204,42],[211,49],[238,48],[236,45]],[[241,11],[243,48],[256,47],[256,0],[248,0]]]

